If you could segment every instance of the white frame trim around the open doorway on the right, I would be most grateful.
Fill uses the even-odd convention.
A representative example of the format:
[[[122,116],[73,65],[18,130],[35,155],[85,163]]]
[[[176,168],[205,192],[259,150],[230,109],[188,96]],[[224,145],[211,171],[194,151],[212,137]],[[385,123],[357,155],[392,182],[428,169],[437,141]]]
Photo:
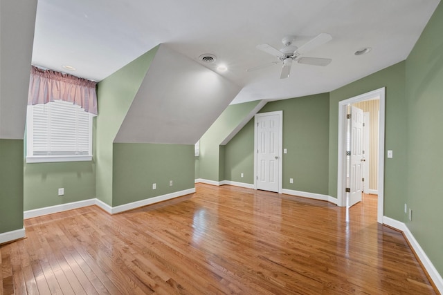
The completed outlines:
[[[386,88],[382,87],[362,95],[357,95],[349,99],[338,102],[338,173],[337,173],[337,204],[338,206],[346,206],[346,106],[362,102],[363,100],[380,99],[380,115],[379,115],[379,173],[378,173],[378,202],[377,202],[377,222],[383,223],[383,204],[384,204],[384,154],[385,154],[385,92]]]

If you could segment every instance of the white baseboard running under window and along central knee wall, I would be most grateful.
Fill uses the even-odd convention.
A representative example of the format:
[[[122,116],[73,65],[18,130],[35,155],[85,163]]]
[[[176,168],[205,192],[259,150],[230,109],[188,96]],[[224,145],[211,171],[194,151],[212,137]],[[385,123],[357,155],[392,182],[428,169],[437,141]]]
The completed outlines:
[[[58,212],[66,211],[66,210],[78,209],[78,208],[92,206],[92,205],[97,205],[98,207],[105,210],[109,214],[116,214],[116,213],[120,213],[123,211],[136,209],[138,207],[143,207],[143,206],[146,206],[149,204],[154,204],[156,202],[162,202],[165,200],[170,200],[170,199],[178,198],[181,196],[186,196],[190,193],[195,193],[195,188],[186,189],[183,191],[176,191],[174,193],[168,193],[163,196],[157,196],[154,198],[149,198],[149,199],[140,200],[140,201],[136,201],[136,202],[132,202],[132,203],[128,203],[128,204],[123,204],[123,205],[116,206],[116,207],[111,207],[111,206],[109,206],[109,204],[106,204],[102,200],[98,200],[97,198],[94,198],[94,199],[89,199],[89,200],[71,202],[71,203],[60,204],[60,205],[55,205],[55,206],[51,206],[51,207],[45,207],[45,208],[40,208],[40,209],[24,211],[24,219],[34,218],[34,217],[38,217],[38,216],[44,216],[47,214],[58,213]]]

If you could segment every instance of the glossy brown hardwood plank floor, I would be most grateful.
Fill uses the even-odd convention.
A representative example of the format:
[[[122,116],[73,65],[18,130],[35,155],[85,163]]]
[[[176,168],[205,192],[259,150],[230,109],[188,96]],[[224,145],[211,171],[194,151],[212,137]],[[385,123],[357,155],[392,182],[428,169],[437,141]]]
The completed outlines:
[[[0,247],[3,294],[435,294],[377,197],[328,202],[197,184],[109,216],[84,207],[25,220]]]

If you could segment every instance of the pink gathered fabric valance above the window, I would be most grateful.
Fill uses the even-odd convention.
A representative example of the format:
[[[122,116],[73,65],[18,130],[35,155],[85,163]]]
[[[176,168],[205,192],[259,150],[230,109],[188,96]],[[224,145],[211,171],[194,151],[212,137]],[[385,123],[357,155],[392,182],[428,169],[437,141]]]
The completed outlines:
[[[33,66],[30,71],[28,104],[46,104],[61,99],[97,115],[96,84],[87,79]]]

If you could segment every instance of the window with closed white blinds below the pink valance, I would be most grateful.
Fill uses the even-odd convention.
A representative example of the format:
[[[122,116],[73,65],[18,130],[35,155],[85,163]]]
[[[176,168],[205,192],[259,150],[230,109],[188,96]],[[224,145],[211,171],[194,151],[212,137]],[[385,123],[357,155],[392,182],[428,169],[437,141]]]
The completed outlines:
[[[26,162],[92,160],[92,115],[72,102],[28,106]]]

